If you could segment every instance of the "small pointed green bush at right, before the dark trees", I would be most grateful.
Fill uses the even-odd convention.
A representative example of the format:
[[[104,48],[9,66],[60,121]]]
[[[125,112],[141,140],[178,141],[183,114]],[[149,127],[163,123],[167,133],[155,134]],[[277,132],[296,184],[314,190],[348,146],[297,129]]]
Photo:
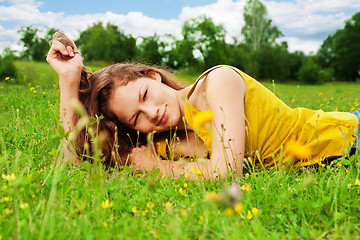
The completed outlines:
[[[320,67],[312,58],[304,62],[297,75],[298,81],[303,84],[321,84],[323,80],[320,77]]]

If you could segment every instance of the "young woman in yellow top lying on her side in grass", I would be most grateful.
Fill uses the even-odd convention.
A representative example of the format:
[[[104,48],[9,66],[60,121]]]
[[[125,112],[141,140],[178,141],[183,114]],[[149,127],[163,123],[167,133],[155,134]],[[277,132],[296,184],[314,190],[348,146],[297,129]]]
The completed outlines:
[[[177,84],[167,71],[142,64],[114,64],[88,74],[76,46],[62,34],[55,34],[47,61],[59,75],[65,130],[74,129],[77,122],[71,99],[80,99],[91,116],[104,116],[98,128],[107,133],[108,165],[120,161],[119,156],[123,160],[130,156],[126,159],[139,170],[159,167],[175,177],[192,171],[214,179],[229,172],[240,175],[244,159],[264,166],[307,166],[355,147],[359,110],[291,109],[233,67],[214,67],[188,87]],[[204,112],[213,117],[199,124]],[[141,147],[146,143],[144,134],[152,132],[161,133],[155,151]],[[84,134],[78,139],[81,150]],[[291,154],[294,144],[305,145],[307,153]],[[169,152],[209,159],[172,161],[177,158],[169,160]]]

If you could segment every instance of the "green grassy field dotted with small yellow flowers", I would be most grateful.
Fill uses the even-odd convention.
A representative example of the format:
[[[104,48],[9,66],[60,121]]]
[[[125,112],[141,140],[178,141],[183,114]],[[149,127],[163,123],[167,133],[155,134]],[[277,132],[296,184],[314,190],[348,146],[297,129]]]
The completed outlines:
[[[301,170],[248,170],[230,180],[77,168],[61,159],[57,77],[18,62],[0,80],[0,239],[360,239],[358,157]],[[292,107],[360,108],[360,84],[265,83]],[[191,174],[191,173],[190,173]]]

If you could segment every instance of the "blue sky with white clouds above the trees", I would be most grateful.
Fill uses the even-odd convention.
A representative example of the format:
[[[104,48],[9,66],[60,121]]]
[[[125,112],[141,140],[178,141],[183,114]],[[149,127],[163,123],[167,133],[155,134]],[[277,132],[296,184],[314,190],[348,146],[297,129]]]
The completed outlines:
[[[53,27],[71,38],[102,21],[126,34],[179,36],[182,24],[202,14],[222,24],[227,41],[241,39],[246,0],[0,0],[0,51],[21,49],[23,26]],[[324,39],[360,11],[359,0],[263,0],[268,17],[284,34],[289,50],[316,52]]]

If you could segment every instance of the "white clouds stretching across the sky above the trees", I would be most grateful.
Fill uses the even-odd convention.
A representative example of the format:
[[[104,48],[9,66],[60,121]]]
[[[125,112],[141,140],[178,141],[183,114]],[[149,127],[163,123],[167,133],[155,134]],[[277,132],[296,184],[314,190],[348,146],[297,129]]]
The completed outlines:
[[[4,0],[0,0],[4,2]],[[184,21],[206,14],[216,24],[227,30],[227,40],[239,37],[244,25],[243,7],[245,0],[218,0],[216,3],[198,7],[184,7],[177,19],[164,20],[145,16],[141,12],[115,14],[113,12],[67,15],[65,12],[41,12],[41,2],[36,0],[10,0],[10,6],[0,5],[0,21],[16,25],[14,29],[0,29],[0,50],[5,45],[15,48],[17,29],[20,26],[47,26],[66,32],[77,38],[79,32],[95,22],[110,22],[119,26],[126,34],[150,36],[181,32]],[[360,9],[359,0],[294,0],[293,2],[263,1],[268,15],[284,33],[282,40],[288,41],[290,51],[302,50],[305,53],[316,50],[327,34],[344,26],[350,16],[346,12]]]

